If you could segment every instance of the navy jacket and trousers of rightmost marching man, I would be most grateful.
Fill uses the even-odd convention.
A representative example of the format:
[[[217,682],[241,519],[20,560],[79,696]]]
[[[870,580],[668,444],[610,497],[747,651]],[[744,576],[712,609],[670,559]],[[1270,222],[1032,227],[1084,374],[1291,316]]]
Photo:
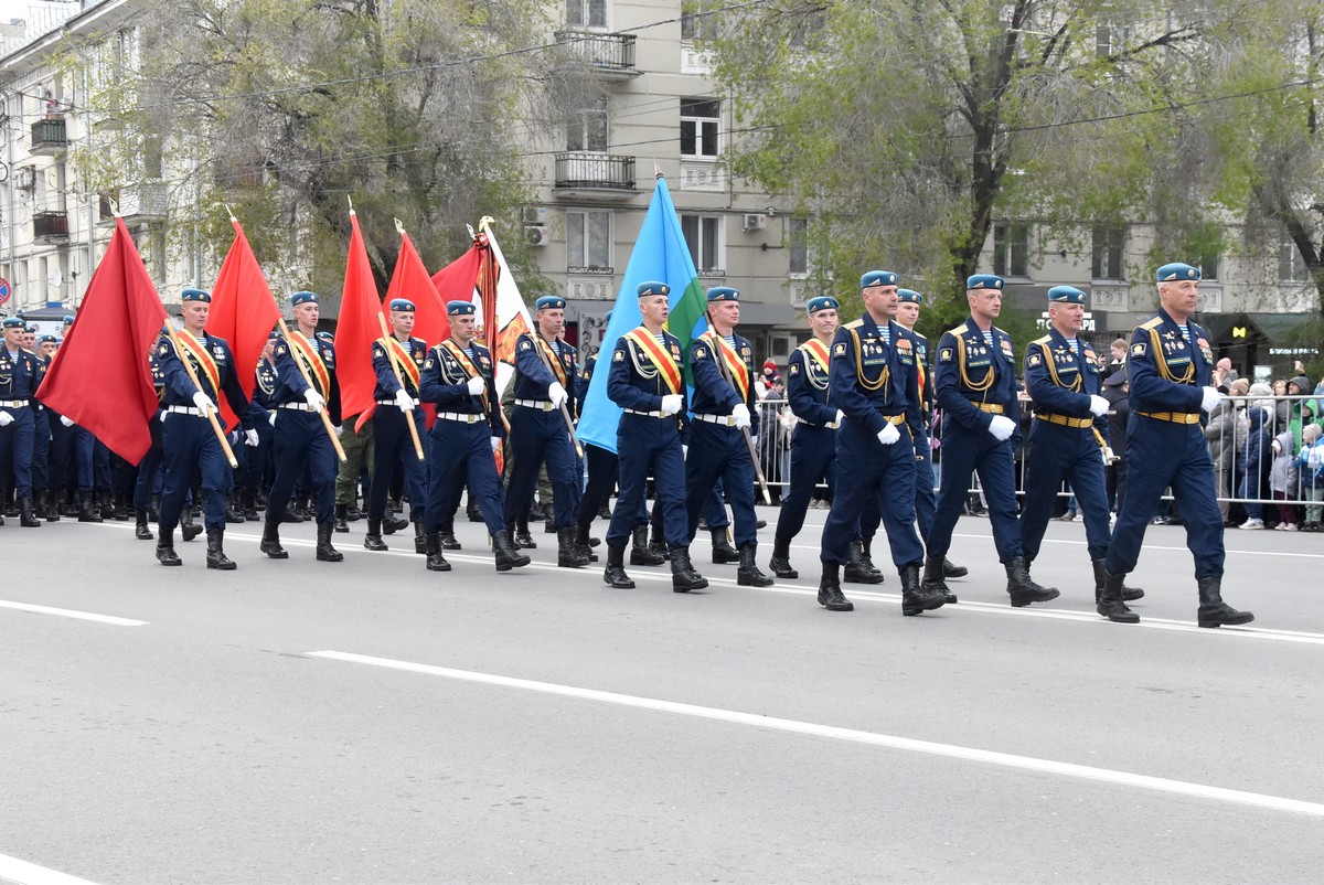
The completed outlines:
[[[1136,567],[1145,529],[1169,486],[1186,526],[1196,579],[1223,575],[1223,519],[1200,409],[1214,354],[1209,333],[1190,321],[1188,327],[1190,340],[1166,311],[1158,310],[1131,337],[1127,497],[1107,559],[1113,575]]]

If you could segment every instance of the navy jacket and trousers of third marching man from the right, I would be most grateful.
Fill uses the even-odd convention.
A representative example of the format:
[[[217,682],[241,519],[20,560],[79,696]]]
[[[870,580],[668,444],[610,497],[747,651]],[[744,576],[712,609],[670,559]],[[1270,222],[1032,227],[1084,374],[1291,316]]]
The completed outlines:
[[[998,559],[1006,563],[1022,554],[1012,457],[1019,429],[1002,443],[989,433],[994,415],[1009,417],[1019,428],[1016,363],[1012,337],[996,326],[992,335],[989,344],[970,318],[937,342],[933,391],[943,411],[943,481],[933,526],[925,538],[929,556],[945,556],[951,548],[952,530],[974,472],[988,499]]]

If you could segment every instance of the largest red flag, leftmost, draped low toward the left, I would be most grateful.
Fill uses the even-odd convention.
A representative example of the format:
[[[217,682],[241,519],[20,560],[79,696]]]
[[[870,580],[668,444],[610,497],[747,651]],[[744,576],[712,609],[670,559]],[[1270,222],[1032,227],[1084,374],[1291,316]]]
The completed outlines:
[[[152,445],[156,388],[147,356],[166,309],[123,219],[60,346],[37,399],[75,421],[130,464]]]

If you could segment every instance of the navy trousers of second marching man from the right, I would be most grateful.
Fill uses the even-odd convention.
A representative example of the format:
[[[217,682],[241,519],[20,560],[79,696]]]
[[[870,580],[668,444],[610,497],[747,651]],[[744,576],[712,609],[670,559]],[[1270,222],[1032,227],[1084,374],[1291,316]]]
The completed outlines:
[[[1100,452],[1094,431],[1087,427],[1034,420],[1025,452],[1025,506],[1021,507],[1021,550],[1026,562],[1034,562],[1039,555],[1063,480],[1071,481],[1071,492],[1084,519],[1090,559],[1108,555],[1108,494]]]

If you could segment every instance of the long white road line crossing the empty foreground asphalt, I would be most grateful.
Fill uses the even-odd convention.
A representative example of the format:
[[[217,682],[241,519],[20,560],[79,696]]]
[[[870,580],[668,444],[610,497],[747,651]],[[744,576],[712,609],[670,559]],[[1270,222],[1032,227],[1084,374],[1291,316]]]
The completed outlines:
[[[527,692],[542,692],[544,694],[559,694],[561,697],[580,698],[585,701],[598,701],[602,703],[616,703],[659,713],[674,713],[679,715],[715,719],[719,722],[732,722],[736,725],[749,725],[759,729],[773,729],[793,734],[810,734],[821,738],[837,741],[850,741],[866,743],[892,750],[906,750],[910,753],[927,753],[932,755],[965,759],[985,764],[1038,771],[1043,774],[1061,775],[1066,778],[1083,778],[1099,780],[1140,790],[1153,790],[1170,792],[1197,799],[1211,799],[1242,806],[1254,806],[1270,811],[1286,811],[1315,817],[1324,817],[1324,804],[1303,802],[1300,799],[1287,799],[1283,796],[1270,796],[1243,790],[1229,790],[1226,787],[1211,787],[1207,784],[1190,783],[1186,780],[1170,780],[1168,778],[1155,778],[1149,775],[1132,774],[1129,771],[1113,771],[1111,768],[1096,768],[1092,766],[1079,766],[1070,762],[1054,762],[1051,759],[1035,759],[1009,753],[996,753],[992,750],[978,750],[974,747],[961,747],[951,743],[935,743],[932,741],[916,741],[874,731],[858,731],[855,729],[839,729],[830,725],[814,722],[800,722],[796,719],[780,719],[776,717],[740,713],[737,710],[723,710],[719,707],[696,706],[694,703],[678,703],[675,701],[661,701],[657,698],[637,697],[633,694],[617,694],[616,692],[598,692],[594,689],[581,689],[572,685],[557,685],[555,682],[535,682],[532,680],[519,680],[508,676],[495,676],[491,673],[475,673],[473,670],[457,670],[446,666],[433,666],[430,664],[414,664],[412,661],[396,661],[387,657],[372,657],[368,654],[354,654],[350,652],[307,652],[308,657],[320,657],[332,661],[346,661],[350,664],[367,664],[393,670],[410,673],[424,673],[426,676],[440,676],[465,682],[478,682],[482,685],[499,685],[502,688],[522,689]]]

